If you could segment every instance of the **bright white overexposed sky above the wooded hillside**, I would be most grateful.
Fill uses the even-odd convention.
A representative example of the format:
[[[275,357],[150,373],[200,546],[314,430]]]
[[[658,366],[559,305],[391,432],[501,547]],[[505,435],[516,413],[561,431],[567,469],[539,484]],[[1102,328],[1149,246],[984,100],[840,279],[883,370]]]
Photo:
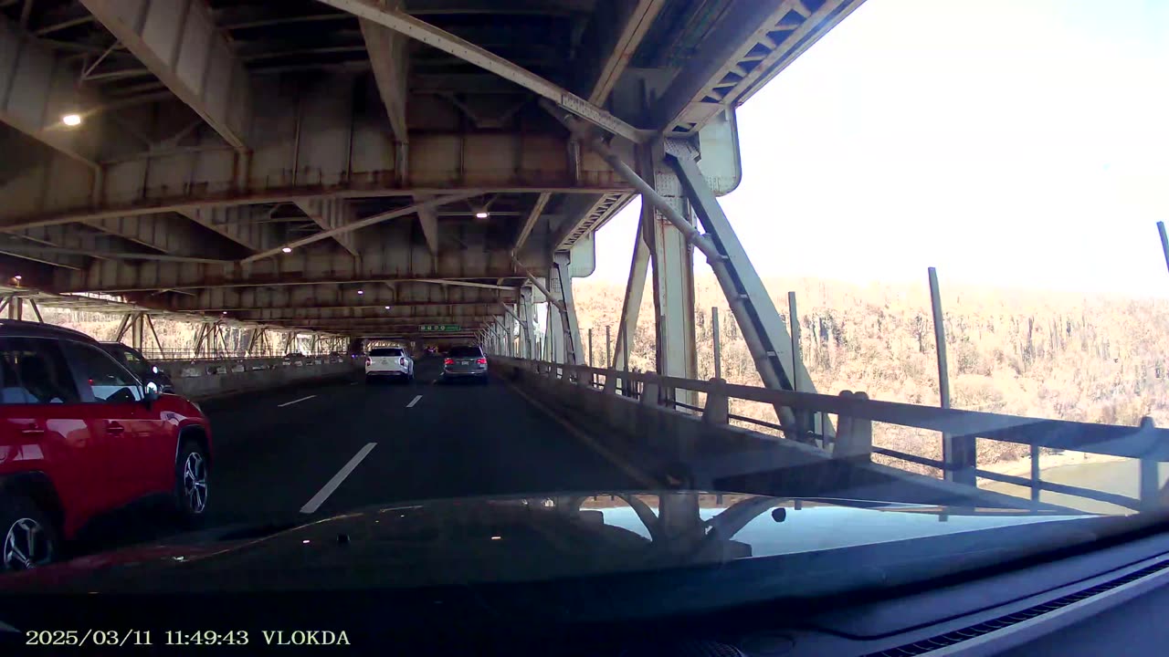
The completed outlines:
[[[765,277],[1169,297],[1167,72],[1167,0],[867,0],[739,108],[720,202]]]

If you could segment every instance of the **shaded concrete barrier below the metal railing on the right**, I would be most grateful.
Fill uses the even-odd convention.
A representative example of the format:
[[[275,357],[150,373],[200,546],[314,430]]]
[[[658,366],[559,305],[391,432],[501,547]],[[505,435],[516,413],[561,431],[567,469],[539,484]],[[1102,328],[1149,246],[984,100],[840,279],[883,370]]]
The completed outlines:
[[[596,441],[606,455],[663,487],[726,490],[776,497],[849,497],[960,507],[1033,505],[749,429],[704,422],[657,403],[599,390],[587,381],[541,374],[497,359],[492,372]],[[574,440],[549,436],[549,440]]]

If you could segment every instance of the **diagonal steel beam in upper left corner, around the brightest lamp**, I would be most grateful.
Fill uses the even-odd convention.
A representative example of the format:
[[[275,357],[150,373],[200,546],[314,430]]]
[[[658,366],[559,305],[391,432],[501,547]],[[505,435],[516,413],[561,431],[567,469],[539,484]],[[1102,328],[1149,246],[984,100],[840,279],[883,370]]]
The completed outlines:
[[[84,124],[87,110],[96,105],[96,98],[77,89],[67,62],[0,16],[0,122],[97,171],[99,124]],[[81,116],[83,125],[64,125],[61,119],[70,113]],[[19,155],[6,159],[20,161]],[[92,185],[89,173],[87,186]]]

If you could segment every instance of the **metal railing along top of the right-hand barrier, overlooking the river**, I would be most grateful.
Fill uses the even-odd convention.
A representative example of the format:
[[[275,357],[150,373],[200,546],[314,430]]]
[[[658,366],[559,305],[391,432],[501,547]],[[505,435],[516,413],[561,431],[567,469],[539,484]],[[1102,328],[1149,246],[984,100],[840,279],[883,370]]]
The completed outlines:
[[[795,393],[727,383],[721,380],[700,381],[652,373],[624,372],[498,355],[491,357],[491,359],[538,376],[580,386],[582,392],[593,390],[596,394],[622,395],[636,399],[639,403],[701,415],[704,422],[726,424],[731,420],[741,420],[766,426],[781,431],[782,438],[779,440],[794,440],[811,444],[836,457],[869,459],[872,454],[879,454],[935,468],[947,473],[947,479],[957,483],[976,485],[976,477],[982,477],[1023,486],[1031,491],[1031,499],[1036,502],[1039,499],[1040,491],[1050,491],[1137,511],[1151,509],[1161,499],[1157,465],[1162,462],[1169,462],[1169,430],[1154,427],[1153,421],[1148,417],[1139,427],[1121,427],[877,401],[870,400],[864,393],[849,390],[842,392],[839,395]],[[692,390],[705,395],[705,404],[696,407],[676,401],[678,390]],[[793,409],[797,415],[801,413],[833,415],[836,416],[837,430],[833,436],[824,436],[800,431],[794,427],[733,415],[728,412],[728,402],[732,399],[772,406],[780,404]],[[943,458],[939,461],[874,447],[872,444],[873,422],[938,431],[953,436],[955,444],[966,443],[971,445],[971,449],[966,454],[945,454]],[[1016,477],[978,469],[977,457],[973,449],[976,438],[1028,445],[1031,457],[1031,477]],[[1140,462],[1140,497],[1133,498],[1084,486],[1043,480],[1038,468],[1039,450],[1043,448],[1137,459]]]

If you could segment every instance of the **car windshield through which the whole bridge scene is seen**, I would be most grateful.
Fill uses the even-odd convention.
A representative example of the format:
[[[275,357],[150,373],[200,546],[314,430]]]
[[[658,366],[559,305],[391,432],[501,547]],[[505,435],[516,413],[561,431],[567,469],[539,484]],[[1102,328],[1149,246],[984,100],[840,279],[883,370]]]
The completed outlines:
[[[1169,514],[1169,1],[0,15],[0,594],[851,604]]]

